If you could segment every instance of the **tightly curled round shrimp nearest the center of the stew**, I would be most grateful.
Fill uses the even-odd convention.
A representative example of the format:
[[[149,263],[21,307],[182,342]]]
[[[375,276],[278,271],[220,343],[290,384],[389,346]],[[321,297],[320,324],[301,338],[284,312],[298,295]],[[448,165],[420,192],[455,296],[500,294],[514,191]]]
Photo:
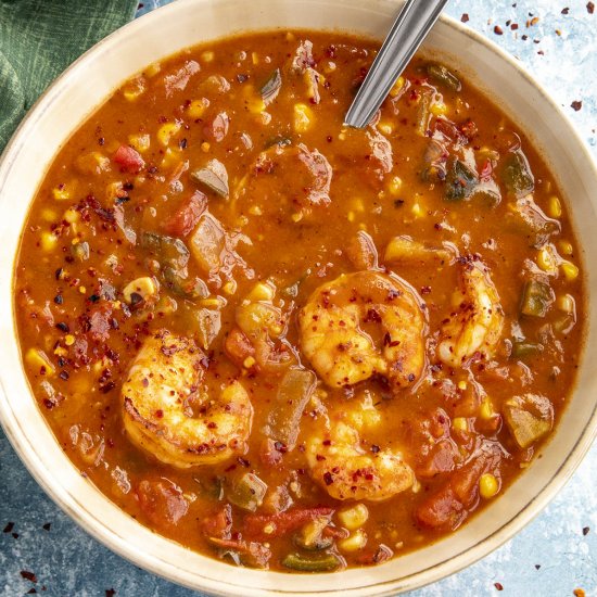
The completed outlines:
[[[313,293],[298,325],[303,353],[332,388],[372,376],[407,388],[424,369],[422,301],[397,276],[342,275]]]

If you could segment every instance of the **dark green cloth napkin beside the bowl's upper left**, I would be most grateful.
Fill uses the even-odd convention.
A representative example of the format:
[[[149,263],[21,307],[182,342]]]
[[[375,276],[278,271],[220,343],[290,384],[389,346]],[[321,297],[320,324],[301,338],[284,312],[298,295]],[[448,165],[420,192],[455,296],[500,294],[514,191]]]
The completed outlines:
[[[0,0],[0,152],[48,84],[130,21],[137,5],[137,0]]]

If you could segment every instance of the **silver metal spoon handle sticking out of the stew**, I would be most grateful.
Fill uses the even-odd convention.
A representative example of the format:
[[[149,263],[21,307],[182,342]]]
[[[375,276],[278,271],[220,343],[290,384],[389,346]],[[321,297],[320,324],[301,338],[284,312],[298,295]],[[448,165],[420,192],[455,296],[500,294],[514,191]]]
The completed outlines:
[[[407,0],[346,112],[345,124],[356,128],[369,124],[446,3],[447,0]]]

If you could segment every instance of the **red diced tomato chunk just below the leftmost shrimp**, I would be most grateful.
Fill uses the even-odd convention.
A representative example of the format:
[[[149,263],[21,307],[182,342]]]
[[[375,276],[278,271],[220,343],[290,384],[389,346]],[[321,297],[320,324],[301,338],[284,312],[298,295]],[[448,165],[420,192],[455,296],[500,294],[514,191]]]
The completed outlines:
[[[178,524],[188,512],[189,503],[182,491],[170,481],[141,481],[137,487],[141,509],[156,526]]]

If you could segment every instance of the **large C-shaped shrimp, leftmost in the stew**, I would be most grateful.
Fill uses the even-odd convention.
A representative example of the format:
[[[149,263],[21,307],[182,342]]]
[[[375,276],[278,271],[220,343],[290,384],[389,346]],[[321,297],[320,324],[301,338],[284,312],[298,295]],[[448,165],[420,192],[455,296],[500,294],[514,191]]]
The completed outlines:
[[[213,465],[246,452],[249,394],[234,381],[207,395],[205,361],[194,341],[162,330],[145,340],[123,385],[128,436],[167,465]]]

